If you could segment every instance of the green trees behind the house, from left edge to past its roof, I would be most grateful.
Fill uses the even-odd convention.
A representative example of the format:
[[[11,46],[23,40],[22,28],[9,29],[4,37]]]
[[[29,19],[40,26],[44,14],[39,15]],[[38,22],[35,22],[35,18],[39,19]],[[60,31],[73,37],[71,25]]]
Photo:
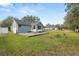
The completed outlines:
[[[14,19],[19,20],[16,17],[8,16],[0,23],[1,27],[10,27],[12,25],[12,22]],[[37,16],[27,15],[27,16],[24,16],[23,18],[21,18],[20,20],[40,21],[40,18],[38,18]]]

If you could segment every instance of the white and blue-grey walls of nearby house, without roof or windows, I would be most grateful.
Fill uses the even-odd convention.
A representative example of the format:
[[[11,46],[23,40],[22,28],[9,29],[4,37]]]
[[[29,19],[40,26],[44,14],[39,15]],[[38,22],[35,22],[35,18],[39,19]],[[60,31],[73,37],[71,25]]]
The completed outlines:
[[[38,22],[32,23],[31,26],[28,26],[28,25],[18,26],[18,24],[14,20],[13,24],[11,26],[11,31],[13,33],[25,33],[25,32],[29,32],[29,31],[32,31],[32,32],[42,32],[42,31],[44,31],[43,26],[42,26],[41,29],[38,29],[38,25],[42,26],[41,24],[38,24]],[[33,29],[33,26],[35,26],[35,29]]]

